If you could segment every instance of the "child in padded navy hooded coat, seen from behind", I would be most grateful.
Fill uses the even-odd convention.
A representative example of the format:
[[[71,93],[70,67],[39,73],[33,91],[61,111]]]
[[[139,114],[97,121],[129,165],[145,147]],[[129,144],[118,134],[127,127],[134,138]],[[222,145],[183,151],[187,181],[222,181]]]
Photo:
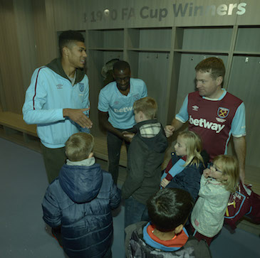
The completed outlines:
[[[61,227],[68,257],[112,257],[111,208],[120,204],[120,190],[95,163],[93,145],[93,136],[83,132],[66,141],[66,164],[43,198],[43,220]]]

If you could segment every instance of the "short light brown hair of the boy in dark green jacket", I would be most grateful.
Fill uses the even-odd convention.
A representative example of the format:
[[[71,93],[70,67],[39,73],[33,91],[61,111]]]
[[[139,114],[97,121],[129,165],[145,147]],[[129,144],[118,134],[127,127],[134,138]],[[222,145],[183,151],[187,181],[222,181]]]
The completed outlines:
[[[136,113],[142,112],[147,119],[155,119],[157,112],[157,103],[152,97],[143,97],[140,100],[136,100],[133,109]]]

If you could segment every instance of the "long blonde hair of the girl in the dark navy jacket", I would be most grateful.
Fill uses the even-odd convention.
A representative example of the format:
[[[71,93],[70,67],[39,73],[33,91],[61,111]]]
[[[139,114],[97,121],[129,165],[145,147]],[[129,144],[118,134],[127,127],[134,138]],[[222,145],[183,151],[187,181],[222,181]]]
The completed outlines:
[[[202,155],[200,155],[202,152],[202,139],[199,135],[194,131],[181,131],[180,134],[178,134],[178,137],[179,136],[186,140],[187,160],[184,166],[195,164],[199,167],[200,162],[204,165]]]

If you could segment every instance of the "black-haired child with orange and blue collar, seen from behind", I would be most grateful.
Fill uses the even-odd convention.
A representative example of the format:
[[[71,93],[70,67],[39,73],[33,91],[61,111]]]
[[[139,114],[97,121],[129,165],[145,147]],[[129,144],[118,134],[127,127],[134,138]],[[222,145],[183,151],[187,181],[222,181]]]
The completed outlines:
[[[189,237],[184,228],[192,207],[192,196],[185,190],[165,188],[157,191],[147,201],[150,222],[138,222],[125,229],[126,256],[211,257],[206,242]]]

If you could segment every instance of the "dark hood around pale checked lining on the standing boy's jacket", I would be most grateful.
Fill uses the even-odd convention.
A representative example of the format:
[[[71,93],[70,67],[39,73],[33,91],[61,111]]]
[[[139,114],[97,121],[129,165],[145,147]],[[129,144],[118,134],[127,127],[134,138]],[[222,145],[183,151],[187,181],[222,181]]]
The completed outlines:
[[[160,123],[157,122],[157,119],[150,119],[135,124],[134,128],[137,130],[137,134],[135,136],[139,137],[149,149],[161,154],[165,152],[168,146],[165,130],[162,128],[162,125],[160,124],[159,132],[152,137],[148,138],[140,133],[140,127],[144,125],[147,125],[148,127],[158,127],[158,124]]]

